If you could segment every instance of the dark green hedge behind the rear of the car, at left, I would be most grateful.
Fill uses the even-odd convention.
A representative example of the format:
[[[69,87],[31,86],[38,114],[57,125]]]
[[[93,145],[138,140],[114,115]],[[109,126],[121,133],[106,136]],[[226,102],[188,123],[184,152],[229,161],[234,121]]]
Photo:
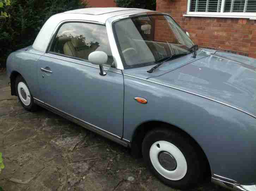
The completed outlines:
[[[5,10],[10,17],[0,18],[0,68],[6,66],[12,51],[33,44],[50,16],[83,8],[85,4],[80,0],[11,0]]]

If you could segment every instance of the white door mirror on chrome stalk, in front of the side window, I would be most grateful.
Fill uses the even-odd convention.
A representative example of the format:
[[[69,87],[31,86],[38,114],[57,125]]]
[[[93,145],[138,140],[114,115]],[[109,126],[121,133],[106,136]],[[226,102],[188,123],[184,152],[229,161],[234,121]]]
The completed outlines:
[[[108,55],[106,53],[104,53],[103,51],[94,51],[91,54],[89,54],[88,60],[92,64],[99,65],[100,75],[106,75],[106,72],[104,72],[103,68],[103,64],[106,64],[108,61]]]

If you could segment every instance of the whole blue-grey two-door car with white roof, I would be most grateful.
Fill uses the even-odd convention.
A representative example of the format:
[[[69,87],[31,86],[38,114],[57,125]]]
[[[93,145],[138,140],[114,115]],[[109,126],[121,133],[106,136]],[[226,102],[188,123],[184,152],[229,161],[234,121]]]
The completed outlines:
[[[256,191],[256,60],[198,48],[168,15],[85,8],[52,16],[7,59],[11,94],[107,137],[178,189]]]

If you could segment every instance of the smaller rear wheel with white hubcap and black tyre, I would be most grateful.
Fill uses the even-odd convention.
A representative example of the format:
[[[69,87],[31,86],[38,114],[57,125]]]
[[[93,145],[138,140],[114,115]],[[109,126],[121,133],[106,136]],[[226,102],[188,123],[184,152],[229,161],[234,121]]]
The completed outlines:
[[[15,83],[16,95],[22,106],[28,111],[36,111],[37,105],[34,103],[29,86],[21,75],[18,75]]]

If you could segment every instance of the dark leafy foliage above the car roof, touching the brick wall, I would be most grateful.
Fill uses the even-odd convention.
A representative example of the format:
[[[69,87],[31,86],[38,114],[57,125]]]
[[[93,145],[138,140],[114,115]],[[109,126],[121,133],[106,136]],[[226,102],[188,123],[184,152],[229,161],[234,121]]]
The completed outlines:
[[[118,7],[136,7],[156,10],[156,0],[115,0]]]

